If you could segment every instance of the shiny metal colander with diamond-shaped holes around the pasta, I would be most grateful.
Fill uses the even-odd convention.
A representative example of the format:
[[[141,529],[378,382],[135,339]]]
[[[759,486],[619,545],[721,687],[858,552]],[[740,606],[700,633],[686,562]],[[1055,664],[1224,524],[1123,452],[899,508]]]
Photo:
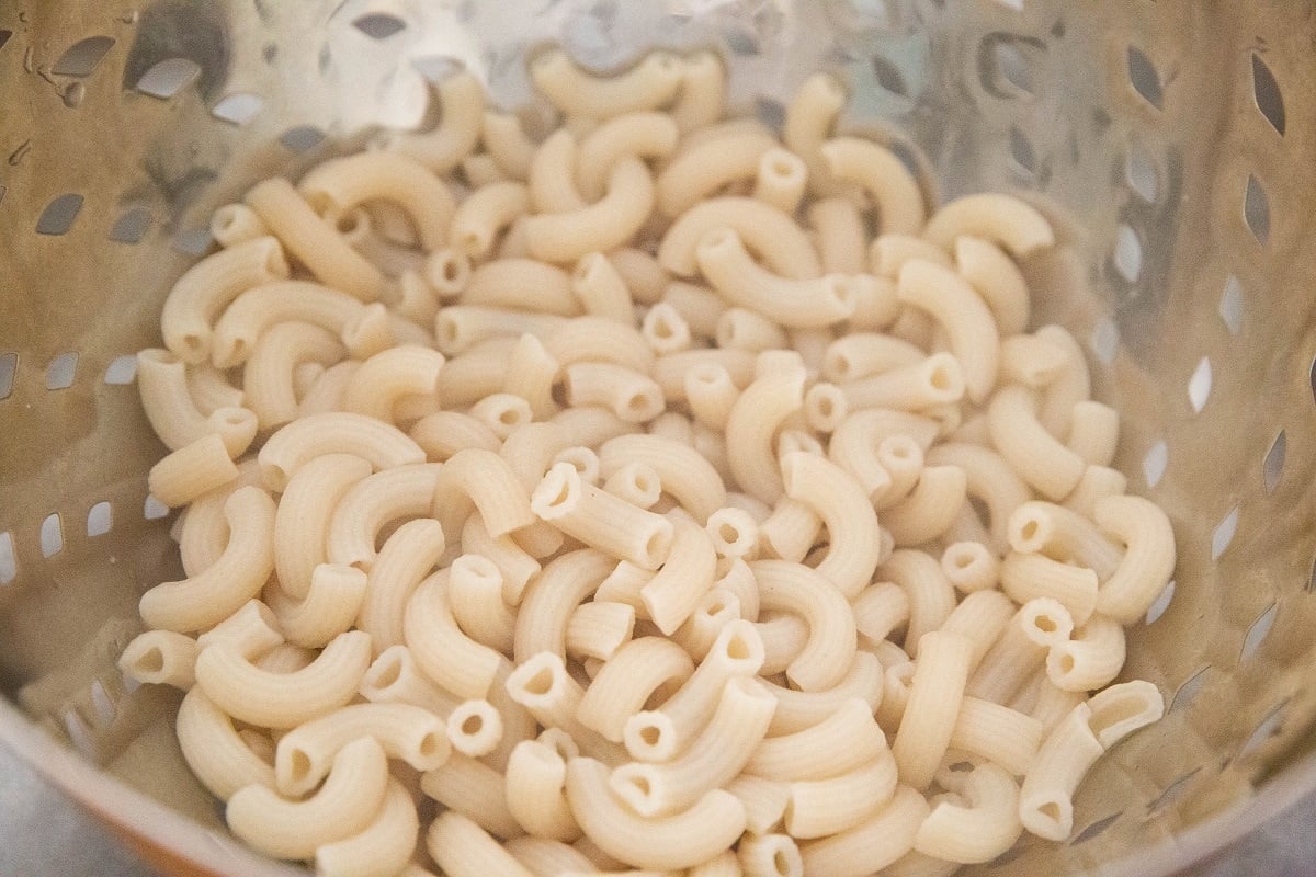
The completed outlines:
[[[1044,204],[1038,318],[1086,342],[1175,579],[1126,677],[1163,722],[1103,760],[1063,844],[980,874],[1163,874],[1316,788],[1316,3],[0,1],[0,740],[174,873],[303,873],[224,830],[176,696],[114,668],[178,577],[133,352],[220,204],[425,125],[459,66],[511,108],[561,42],[608,70],[715,46],[779,121],[826,68],[941,196]]]

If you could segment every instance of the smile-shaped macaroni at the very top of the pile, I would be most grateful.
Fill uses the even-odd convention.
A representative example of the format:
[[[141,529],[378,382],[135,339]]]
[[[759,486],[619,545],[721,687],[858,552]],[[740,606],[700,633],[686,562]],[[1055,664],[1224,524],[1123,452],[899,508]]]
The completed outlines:
[[[600,120],[669,104],[684,74],[670,51],[650,51],[630,70],[611,76],[586,72],[561,49],[541,53],[529,67],[536,89],[550,104],[567,116]]]

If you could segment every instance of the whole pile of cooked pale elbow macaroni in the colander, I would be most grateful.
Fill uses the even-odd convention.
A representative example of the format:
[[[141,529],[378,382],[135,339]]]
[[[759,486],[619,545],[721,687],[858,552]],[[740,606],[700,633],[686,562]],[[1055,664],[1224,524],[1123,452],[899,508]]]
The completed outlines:
[[[549,50],[215,214],[138,358],[186,577],[122,655],[258,851],[321,874],[950,874],[1158,719],[1112,685],[1166,515],[1109,468],[1055,246],[932,212],[816,75]]]

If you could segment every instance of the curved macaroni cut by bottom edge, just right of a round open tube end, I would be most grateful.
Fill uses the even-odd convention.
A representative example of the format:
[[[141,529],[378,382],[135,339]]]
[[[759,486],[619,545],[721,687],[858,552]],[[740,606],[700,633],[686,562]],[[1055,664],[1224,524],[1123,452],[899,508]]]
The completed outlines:
[[[898,785],[891,801],[853,828],[800,847],[804,873],[865,877],[913,849],[919,827],[930,813],[921,794]]]

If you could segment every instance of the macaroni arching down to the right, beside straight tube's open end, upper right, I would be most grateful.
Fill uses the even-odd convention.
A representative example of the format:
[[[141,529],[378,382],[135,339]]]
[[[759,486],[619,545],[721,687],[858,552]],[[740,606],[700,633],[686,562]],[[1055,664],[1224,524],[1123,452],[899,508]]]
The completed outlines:
[[[965,371],[965,388],[974,402],[996,385],[1000,331],[982,297],[954,271],[915,259],[900,268],[896,297],[930,314],[950,342]]]

